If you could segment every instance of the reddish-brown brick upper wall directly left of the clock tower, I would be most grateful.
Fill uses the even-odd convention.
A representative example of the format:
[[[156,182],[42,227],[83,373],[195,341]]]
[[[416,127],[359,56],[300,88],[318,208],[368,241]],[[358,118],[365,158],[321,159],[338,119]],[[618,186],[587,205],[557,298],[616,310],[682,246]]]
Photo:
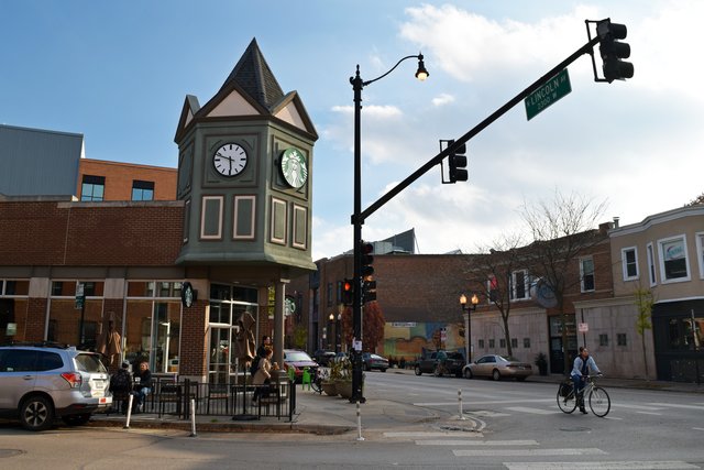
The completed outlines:
[[[178,201],[0,201],[0,260],[3,265],[170,266],[182,247],[183,211]]]

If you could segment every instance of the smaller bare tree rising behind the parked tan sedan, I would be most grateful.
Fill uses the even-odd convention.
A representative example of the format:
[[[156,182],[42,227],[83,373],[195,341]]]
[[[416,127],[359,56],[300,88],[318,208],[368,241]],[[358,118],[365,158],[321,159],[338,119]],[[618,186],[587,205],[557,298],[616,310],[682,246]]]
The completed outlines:
[[[522,240],[518,234],[506,234],[498,239],[492,247],[480,247],[480,254],[469,258],[470,267],[468,276],[472,287],[480,297],[484,297],[496,307],[501,317],[506,339],[507,356],[513,356],[510,343],[510,330],[508,317],[510,316],[512,299],[517,286],[514,285],[513,275],[518,269],[527,267],[521,259],[520,250]],[[525,284],[524,288],[528,288]],[[472,338],[469,338],[471,342]]]

